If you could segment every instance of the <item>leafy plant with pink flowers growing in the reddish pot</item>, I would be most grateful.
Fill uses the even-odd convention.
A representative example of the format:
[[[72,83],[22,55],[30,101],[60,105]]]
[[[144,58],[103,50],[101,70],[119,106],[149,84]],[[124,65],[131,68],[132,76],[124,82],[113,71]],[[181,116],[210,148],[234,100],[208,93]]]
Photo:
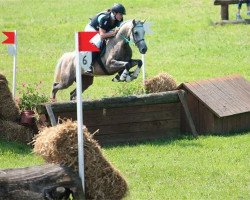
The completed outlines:
[[[35,110],[38,104],[48,102],[49,98],[39,92],[41,84],[42,82],[40,81],[38,84],[35,84],[34,87],[33,84],[23,83],[22,87],[17,89],[20,95],[17,98],[20,110]]]

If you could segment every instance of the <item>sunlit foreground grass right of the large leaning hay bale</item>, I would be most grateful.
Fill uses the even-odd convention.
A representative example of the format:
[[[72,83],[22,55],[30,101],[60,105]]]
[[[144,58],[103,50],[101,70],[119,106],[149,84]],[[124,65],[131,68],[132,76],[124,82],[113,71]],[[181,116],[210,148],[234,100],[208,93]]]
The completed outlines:
[[[106,148],[129,182],[127,199],[249,199],[250,135]]]

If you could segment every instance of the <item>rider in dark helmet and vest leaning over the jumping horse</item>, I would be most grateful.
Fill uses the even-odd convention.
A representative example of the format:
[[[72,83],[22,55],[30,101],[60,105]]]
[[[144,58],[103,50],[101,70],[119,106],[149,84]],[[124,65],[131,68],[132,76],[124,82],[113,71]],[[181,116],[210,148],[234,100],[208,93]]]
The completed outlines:
[[[114,37],[119,31],[118,27],[123,21],[123,15],[126,15],[125,7],[120,3],[115,3],[111,9],[94,16],[84,29],[84,31],[98,31],[90,42],[101,48],[103,40]],[[96,57],[96,54],[93,57]]]

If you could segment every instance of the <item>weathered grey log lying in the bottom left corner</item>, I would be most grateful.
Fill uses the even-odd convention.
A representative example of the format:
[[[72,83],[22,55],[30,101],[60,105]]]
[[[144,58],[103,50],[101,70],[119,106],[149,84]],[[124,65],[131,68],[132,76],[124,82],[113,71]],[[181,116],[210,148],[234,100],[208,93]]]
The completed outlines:
[[[42,166],[0,170],[0,200],[84,199],[81,180],[68,167]]]

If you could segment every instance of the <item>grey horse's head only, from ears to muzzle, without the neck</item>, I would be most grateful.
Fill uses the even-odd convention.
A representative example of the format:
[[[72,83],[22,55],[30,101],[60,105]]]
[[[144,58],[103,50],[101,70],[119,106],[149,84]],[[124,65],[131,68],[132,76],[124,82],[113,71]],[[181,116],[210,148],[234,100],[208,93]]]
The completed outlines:
[[[145,36],[145,30],[143,27],[144,22],[133,20],[132,23],[133,27],[131,30],[130,38],[134,41],[140,53],[145,54],[148,48],[144,40]]]

